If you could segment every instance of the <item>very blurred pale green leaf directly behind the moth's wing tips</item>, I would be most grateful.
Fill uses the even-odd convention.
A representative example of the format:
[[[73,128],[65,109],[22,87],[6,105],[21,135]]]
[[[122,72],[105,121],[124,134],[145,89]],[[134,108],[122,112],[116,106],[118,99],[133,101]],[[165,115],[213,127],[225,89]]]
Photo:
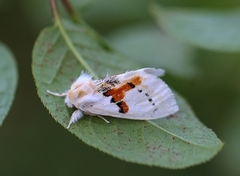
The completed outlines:
[[[172,39],[149,23],[124,27],[108,35],[107,39],[118,51],[143,66],[160,67],[184,78],[198,74],[194,48]]]

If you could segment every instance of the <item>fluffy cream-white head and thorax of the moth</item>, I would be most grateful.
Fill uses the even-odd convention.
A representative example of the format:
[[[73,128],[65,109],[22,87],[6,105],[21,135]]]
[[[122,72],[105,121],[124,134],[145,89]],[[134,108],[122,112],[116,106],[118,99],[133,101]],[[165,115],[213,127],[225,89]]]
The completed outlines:
[[[69,107],[80,107],[80,104],[84,102],[87,96],[92,96],[94,93],[94,84],[92,77],[87,74],[81,74],[80,77],[71,85],[71,88],[67,92],[65,103]]]

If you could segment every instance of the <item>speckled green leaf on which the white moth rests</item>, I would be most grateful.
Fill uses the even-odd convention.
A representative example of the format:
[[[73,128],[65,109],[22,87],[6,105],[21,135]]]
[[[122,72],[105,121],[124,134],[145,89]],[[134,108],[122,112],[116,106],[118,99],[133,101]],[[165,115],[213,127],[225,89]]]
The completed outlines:
[[[66,128],[73,110],[61,97],[82,70],[104,77],[140,68],[112,50],[88,26],[64,22],[44,29],[33,50],[33,75],[38,95],[53,118]],[[65,33],[66,32],[66,33]],[[84,60],[81,60],[83,59]],[[94,70],[94,71],[91,71]],[[85,143],[125,161],[166,168],[185,168],[205,162],[221,148],[212,130],[195,117],[177,93],[180,111],[154,121],[133,121],[85,116],[69,131]]]

